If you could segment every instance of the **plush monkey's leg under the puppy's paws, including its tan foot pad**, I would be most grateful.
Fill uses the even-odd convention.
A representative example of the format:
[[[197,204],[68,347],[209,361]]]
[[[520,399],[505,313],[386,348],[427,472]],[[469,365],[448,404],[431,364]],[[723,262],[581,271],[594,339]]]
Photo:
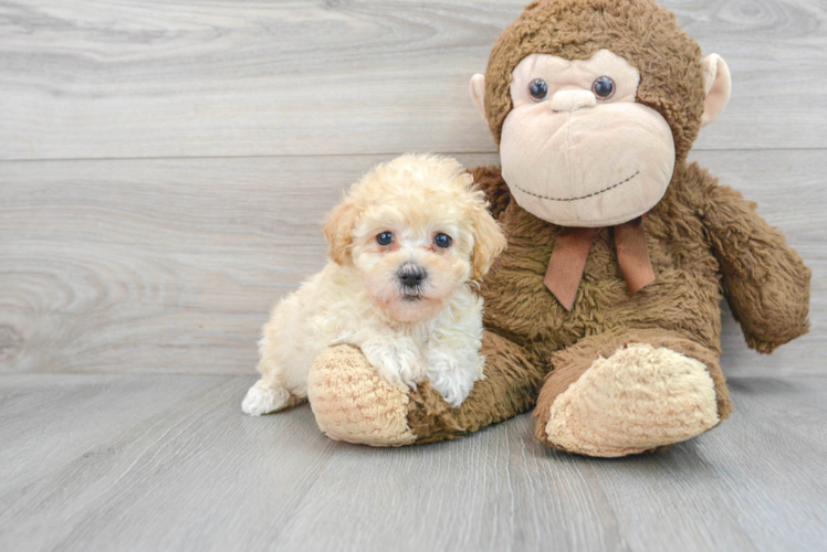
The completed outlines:
[[[334,439],[399,446],[453,438],[531,408],[543,381],[542,367],[500,336],[485,332],[482,353],[485,378],[458,408],[428,381],[410,392],[388,384],[349,346],[316,358],[307,396],[320,428]]]

